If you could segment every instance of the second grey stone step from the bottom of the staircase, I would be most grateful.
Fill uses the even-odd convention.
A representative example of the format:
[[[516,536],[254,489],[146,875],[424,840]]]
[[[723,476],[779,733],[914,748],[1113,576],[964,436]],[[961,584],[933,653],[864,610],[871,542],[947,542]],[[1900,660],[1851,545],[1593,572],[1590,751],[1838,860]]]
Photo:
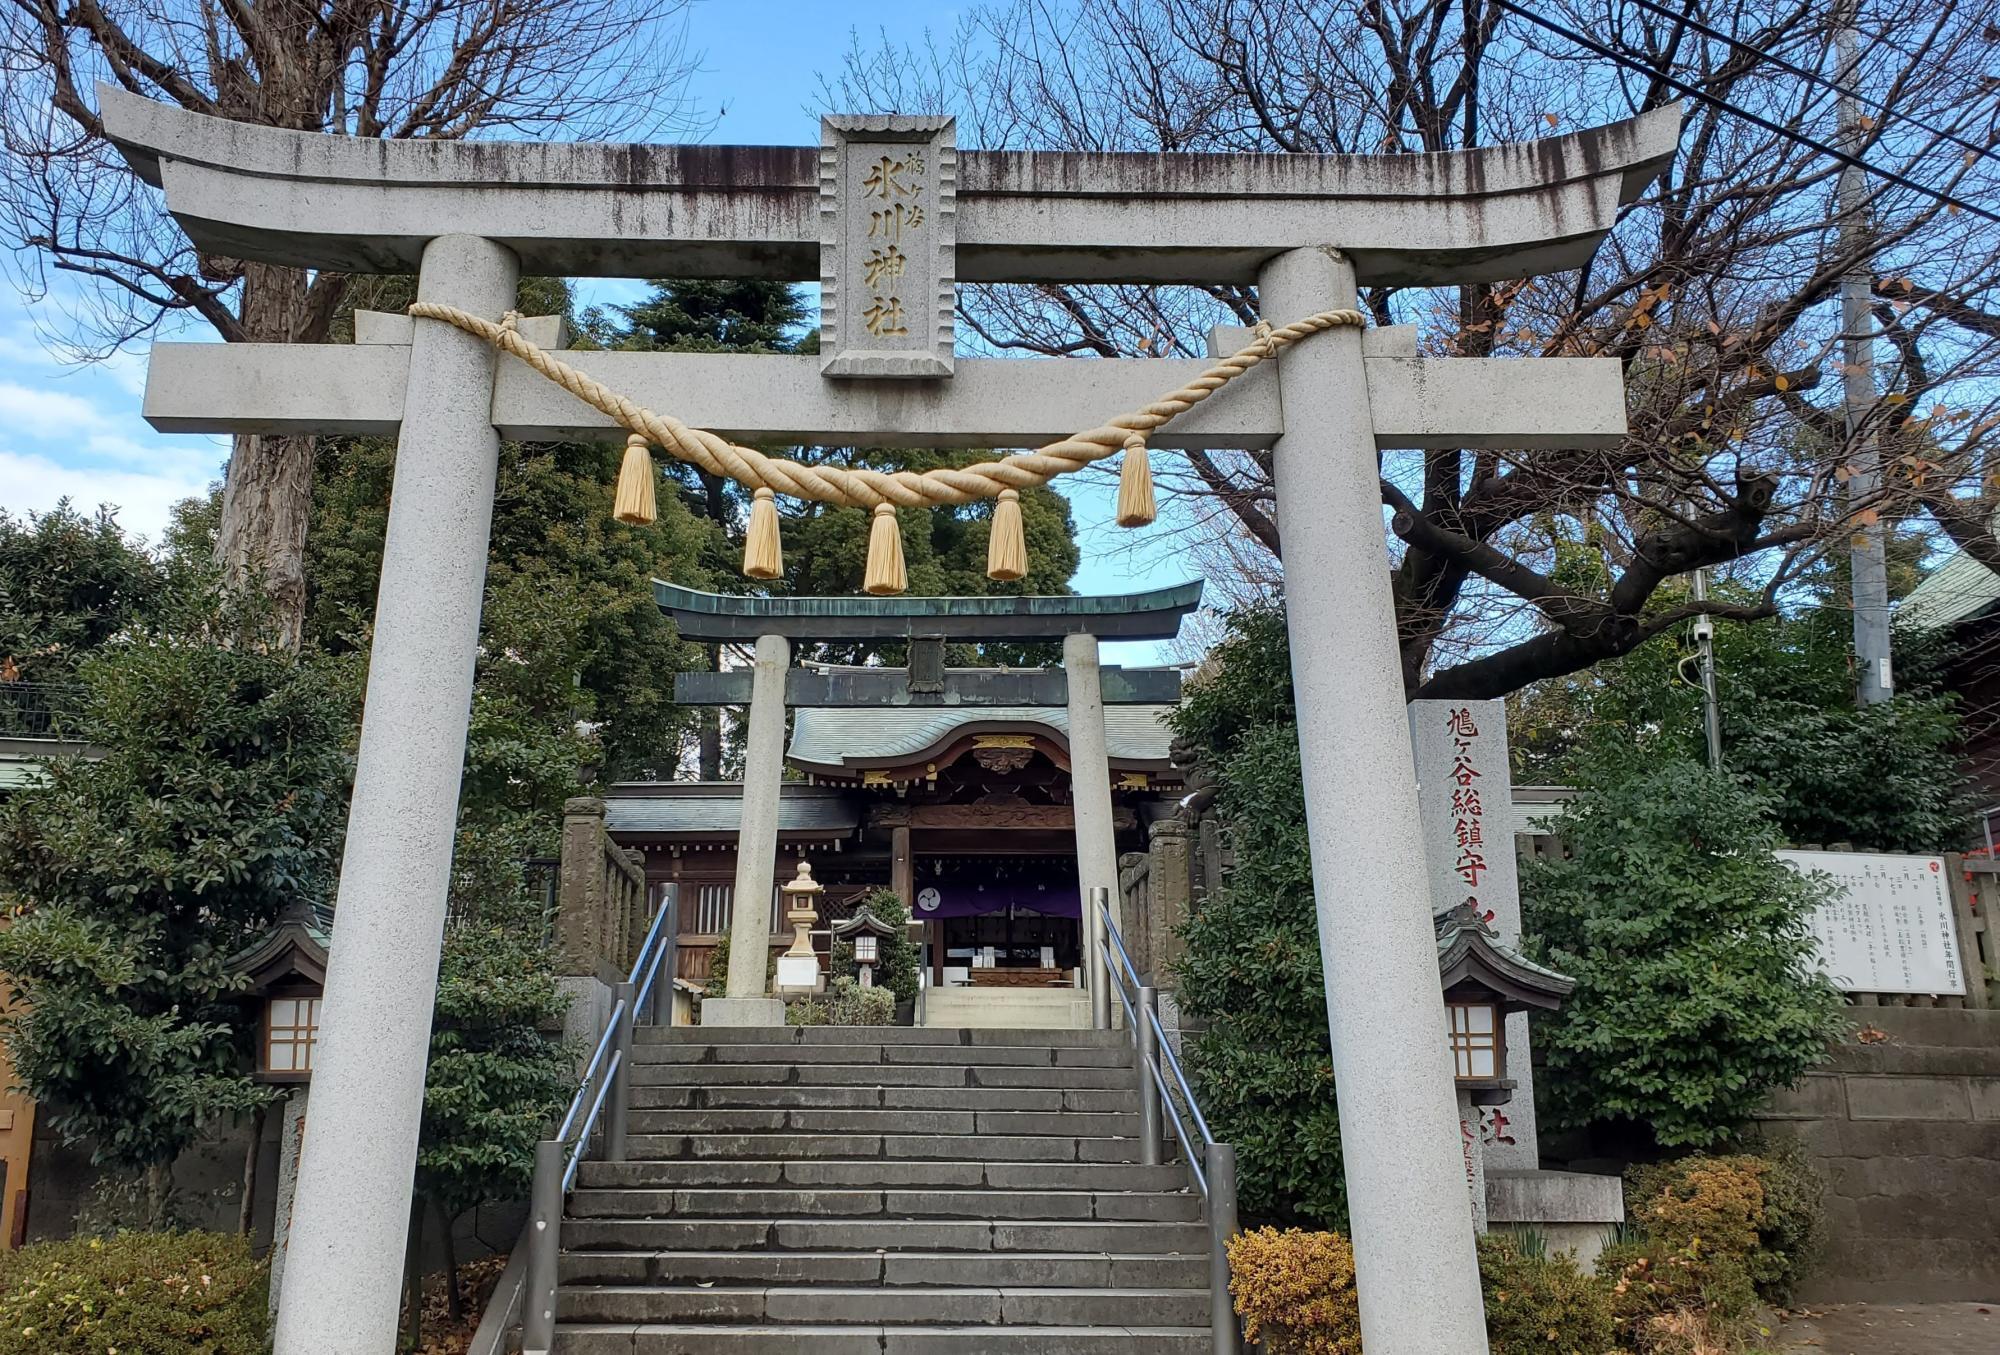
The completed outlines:
[[[1208,1321],[1208,1289],[932,1289],[832,1285],[596,1285],[568,1289],[558,1321],[816,1323],[952,1327],[1192,1327]]]

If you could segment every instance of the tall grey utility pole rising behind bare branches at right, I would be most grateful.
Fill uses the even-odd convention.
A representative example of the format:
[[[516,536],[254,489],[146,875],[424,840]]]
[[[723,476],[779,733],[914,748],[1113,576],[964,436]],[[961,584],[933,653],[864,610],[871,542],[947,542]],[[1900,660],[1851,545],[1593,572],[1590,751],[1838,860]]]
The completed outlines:
[[[1854,30],[1860,0],[1840,0],[1834,54],[1840,62],[1840,148],[1860,158],[1868,132],[1862,126],[1860,34]],[[1854,262],[1840,280],[1842,404],[1848,434],[1848,506],[1868,520],[1854,524],[1848,544],[1850,598],[1854,604],[1854,666],[1862,705],[1886,701],[1896,691],[1888,656],[1888,552],[1878,498],[1882,448],[1866,428],[1876,402],[1874,386],[1874,254],[1868,250],[1868,180],[1856,166],[1840,172],[1840,248]]]

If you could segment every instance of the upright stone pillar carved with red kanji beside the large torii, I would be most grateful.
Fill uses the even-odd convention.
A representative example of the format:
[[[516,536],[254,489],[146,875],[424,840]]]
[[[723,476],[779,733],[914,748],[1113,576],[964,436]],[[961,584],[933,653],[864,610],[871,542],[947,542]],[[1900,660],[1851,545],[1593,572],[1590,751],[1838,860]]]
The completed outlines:
[[[1410,735],[1432,911],[1470,903],[1500,933],[1502,945],[1520,945],[1506,701],[1412,701]],[[1444,1035],[1438,1039],[1442,1045]],[[1506,1075],[1516,1083],[1514,1097],[1476,1109],[1486,1167],[1534,1171],[1540,1161],[1524,1011],[1506,1019]]]

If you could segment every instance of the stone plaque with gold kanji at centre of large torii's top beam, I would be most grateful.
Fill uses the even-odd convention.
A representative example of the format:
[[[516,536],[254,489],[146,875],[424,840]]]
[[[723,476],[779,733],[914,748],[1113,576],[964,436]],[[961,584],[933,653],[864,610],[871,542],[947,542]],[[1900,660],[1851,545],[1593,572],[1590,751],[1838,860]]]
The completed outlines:
[[[820,120],[820,372],[950,376],[952,118]]]

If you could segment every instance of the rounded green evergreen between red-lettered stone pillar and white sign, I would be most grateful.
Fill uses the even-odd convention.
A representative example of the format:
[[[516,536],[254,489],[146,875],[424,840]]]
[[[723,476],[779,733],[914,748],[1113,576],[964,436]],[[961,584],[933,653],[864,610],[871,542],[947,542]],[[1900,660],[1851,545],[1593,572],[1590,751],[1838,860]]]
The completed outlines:
[[[1668,1147],[1728,1141],[1826,1057],[1846,1003],[1812,967],[1824,877],[1792,871],[1770,801],[1684,759],[1594,765],[1522,869],[1522,925],[1576,979],[1534,1015],[1558,1127],[1626,1123]]]

